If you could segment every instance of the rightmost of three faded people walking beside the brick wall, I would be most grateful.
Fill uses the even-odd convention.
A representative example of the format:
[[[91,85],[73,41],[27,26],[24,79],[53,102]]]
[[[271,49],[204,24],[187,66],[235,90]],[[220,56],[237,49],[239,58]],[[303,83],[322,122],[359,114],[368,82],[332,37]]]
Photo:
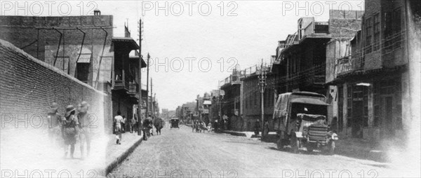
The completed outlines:
[[[79,140],[81,142],[81,158],[85,158],[85,145],[86,145],[86,156],[89,156],[91,153],[91,141],[93,138],[93,129],[97,128],[96,125],[92,125],[95,123],[96,118],[93,114],[88,114],[89,104],[88,102],[81,102],[77,109],[79,112],[77,114],[77,118],[79,120]]]

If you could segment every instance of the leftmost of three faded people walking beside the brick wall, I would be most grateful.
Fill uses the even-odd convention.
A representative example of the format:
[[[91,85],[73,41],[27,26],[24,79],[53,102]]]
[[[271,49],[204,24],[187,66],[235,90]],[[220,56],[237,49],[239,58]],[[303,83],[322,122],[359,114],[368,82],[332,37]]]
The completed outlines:
[[[59,138],[62,138],[62,117],[58,115],[58,104],[53,102],[48,107],[47,112],[48,121],[48,138],[50,144],[58,143]]]

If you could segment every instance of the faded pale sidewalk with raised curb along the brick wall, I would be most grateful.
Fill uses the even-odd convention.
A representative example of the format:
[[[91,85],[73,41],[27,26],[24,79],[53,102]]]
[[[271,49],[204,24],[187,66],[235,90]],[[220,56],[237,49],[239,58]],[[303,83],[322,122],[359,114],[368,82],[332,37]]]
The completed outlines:
[[[1,174],[4,177],[105,177],[142,142],[137,133],[126,132],[122,137],[121,144],[116,144],[115,135],[95,135],[91,154],[84,159],[78,141],[72,159],[63,158],[62,144],[51,144],[46,130],[1,130]]]

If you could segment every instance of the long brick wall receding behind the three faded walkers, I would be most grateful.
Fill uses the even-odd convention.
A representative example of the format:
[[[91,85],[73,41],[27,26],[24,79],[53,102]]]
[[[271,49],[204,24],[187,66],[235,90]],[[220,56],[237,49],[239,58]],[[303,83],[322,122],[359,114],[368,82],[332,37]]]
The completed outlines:
[[[8,41],[0,39],[1,129],[47,128],[46,112],[57,102],[61,115],[69,104],[91,104],[98,132],[110,132],[111,96],[95,90],[51,65],[36,60]],[[105,127],[104,127],[105,125]]]

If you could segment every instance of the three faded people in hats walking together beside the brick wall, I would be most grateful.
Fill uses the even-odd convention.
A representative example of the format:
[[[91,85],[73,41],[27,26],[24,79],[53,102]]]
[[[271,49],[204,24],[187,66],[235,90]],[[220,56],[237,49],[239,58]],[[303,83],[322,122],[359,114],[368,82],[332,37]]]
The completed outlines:
[[[89,156],[91,152],[91,138],[93,136],[93,128],[95,125],[90,125],[92,122],[91,115],[88,114],[89,104],[88,102],[81,102],[77,108],[73,105],[66,107],[65,116],[58,114],[58,104],[53,102],[48,108],[48,135],[51,142],[55,139],[55,136],[60,133],[62,141],[64,141],[65,155],[63,158],[67,158],[70,152],[70,158],[74,158],[74,145],[76,141],[80,142],[81,159],[85,156]],[[77,111],[77,114],[76,114]],[[86,145],[86,155],[85,155]]]

